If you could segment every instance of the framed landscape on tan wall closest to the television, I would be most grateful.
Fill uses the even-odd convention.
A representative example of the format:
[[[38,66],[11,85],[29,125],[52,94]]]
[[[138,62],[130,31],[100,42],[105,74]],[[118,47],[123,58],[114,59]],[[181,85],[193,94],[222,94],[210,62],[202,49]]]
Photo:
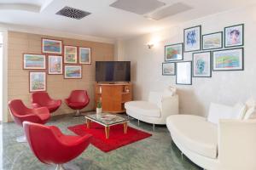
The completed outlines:
[[[82,78],[81,65],[65,65],[64,78]]]

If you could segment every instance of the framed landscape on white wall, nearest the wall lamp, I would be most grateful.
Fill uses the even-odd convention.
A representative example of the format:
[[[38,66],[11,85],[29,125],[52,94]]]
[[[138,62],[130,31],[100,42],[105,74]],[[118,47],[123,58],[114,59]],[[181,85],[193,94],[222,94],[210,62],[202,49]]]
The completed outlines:
[[[183,59],[183,43],[176,43],[165,46],[165,60],[182,60]]]

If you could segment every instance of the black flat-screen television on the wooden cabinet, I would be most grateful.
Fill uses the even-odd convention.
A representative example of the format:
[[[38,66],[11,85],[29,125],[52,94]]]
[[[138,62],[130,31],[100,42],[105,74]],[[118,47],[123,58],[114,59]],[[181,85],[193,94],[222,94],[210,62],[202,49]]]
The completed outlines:
[[[96,61],[96,82],[131,82],[131,61]]]

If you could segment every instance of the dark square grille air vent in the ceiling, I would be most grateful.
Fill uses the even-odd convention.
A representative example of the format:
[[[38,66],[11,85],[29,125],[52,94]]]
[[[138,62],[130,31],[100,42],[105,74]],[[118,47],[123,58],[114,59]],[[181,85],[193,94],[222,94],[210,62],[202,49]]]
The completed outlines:
[[[67,16],[69,18],[80,20],[85,16],[89,15],[90,13],[86,11],[82,11],[78,8],[64,7],[64,8],[61,8],[61,10],[56,14],[60,14],[62,16]]]

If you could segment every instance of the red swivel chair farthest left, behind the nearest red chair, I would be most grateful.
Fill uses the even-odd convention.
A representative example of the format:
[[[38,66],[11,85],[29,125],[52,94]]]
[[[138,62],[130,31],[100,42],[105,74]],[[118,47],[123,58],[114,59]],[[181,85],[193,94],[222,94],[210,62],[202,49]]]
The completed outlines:
[[[49,111],[46,107],[29,109],[20,99],[9,101],[9,111],[15,123],[22,127],[22,122],[37,122],[44,124],[49,120]],[[18,137],[17,142],[26,142],[25,135]]]

